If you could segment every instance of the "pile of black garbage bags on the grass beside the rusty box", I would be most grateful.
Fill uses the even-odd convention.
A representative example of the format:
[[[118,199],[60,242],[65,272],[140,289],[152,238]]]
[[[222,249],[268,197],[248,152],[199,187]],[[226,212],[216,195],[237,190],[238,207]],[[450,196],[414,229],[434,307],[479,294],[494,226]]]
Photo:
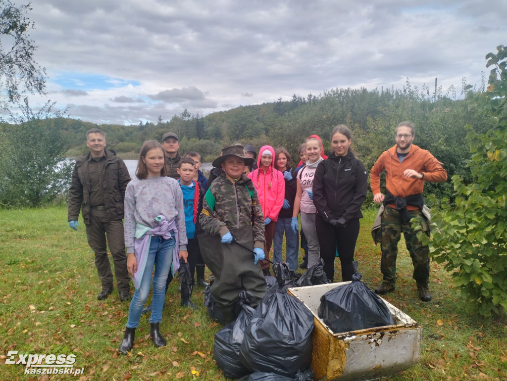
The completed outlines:
[[[241,312],[216,332],[214,359],[229,378],[310,381],[314,317],[299,299],[287,293],[287,288],[299,287],[299,280],[291,279],[288,264],[275,263],[273,272],[275,277],[266,278],[276,282],[267,280],[271,287],[255,309],[250,306],[255,298],[249,292],[239,294]],[[312,276],[305,279],[310,282]],[[212,297],[205,298],[208,312],[213,312]]]

